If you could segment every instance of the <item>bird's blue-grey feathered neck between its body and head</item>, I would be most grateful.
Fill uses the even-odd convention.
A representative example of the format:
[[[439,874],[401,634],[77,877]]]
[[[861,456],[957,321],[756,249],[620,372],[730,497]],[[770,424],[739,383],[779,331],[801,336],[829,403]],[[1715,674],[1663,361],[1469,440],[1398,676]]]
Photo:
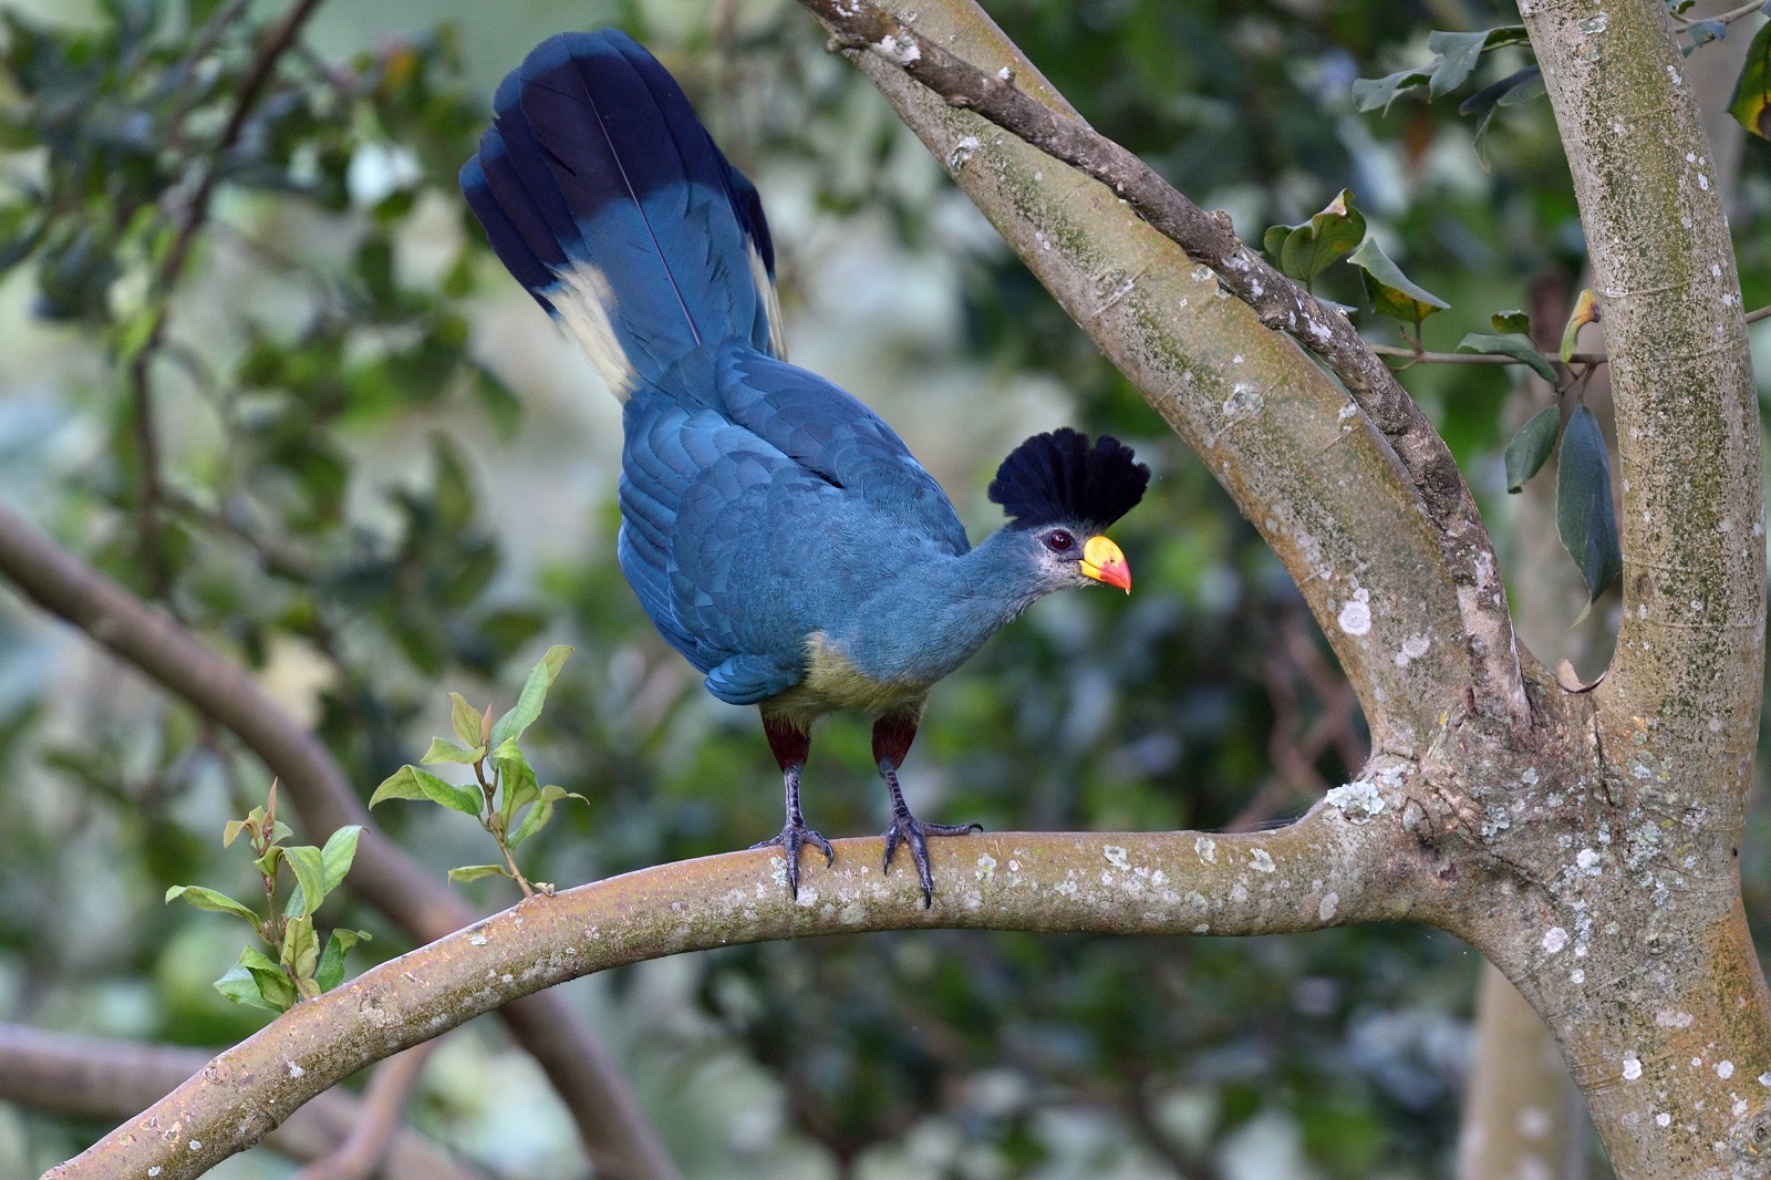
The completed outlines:
[[[926,553],[907,562],[845,636],[857,666],[880,680],[933,684],[1047,594],[1040,571],[1004,532],[960,556]]]

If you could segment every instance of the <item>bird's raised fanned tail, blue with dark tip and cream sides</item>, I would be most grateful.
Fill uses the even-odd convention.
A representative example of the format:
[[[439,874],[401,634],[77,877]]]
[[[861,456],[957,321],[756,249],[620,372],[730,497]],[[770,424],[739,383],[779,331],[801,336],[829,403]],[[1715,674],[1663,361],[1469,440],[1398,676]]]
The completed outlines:
[[[781,354],[762,200],[655,57],[611,28],[549,37],[494,106],[462,193],[616,397],[700,344]]]

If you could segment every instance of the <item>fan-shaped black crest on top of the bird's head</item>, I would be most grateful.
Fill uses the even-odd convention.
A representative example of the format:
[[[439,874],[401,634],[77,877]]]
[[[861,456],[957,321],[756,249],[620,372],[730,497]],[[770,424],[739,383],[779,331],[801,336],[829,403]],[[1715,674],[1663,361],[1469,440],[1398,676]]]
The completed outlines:
[[[1034,434],[1017,446],[990,482],[990,500],[1002,505],[1009,528],[1080,524],[1100,532],[1137,507],[1149,487],[1149,468],[1132,448],[1102,434],[1064,427]]]

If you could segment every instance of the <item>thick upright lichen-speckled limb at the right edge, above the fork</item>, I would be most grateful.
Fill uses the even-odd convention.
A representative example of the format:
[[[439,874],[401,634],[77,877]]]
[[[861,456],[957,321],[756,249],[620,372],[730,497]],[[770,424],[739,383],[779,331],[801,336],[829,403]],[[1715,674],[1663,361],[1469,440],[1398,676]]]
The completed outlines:
[[[1624,615],[1601,700],[1684,734],[1734,810],[1759,726],[1766,540],[1721,184],[1661,5],[1546,0],[1523,12],[1612,356]]]

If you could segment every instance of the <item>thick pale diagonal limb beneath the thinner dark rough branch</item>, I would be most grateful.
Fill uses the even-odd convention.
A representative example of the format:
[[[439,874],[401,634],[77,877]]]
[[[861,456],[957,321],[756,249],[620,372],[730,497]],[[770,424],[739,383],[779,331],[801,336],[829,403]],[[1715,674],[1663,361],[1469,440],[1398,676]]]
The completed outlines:
[[[1063,101],[976,7],[930,0],[917,27]],[[1426,749],[1468,684],[1456,588],[1394,452],[1346,392],[1094,181],[884,58],[859,66],[1273,547],[1358,691],[1374,744]]]

